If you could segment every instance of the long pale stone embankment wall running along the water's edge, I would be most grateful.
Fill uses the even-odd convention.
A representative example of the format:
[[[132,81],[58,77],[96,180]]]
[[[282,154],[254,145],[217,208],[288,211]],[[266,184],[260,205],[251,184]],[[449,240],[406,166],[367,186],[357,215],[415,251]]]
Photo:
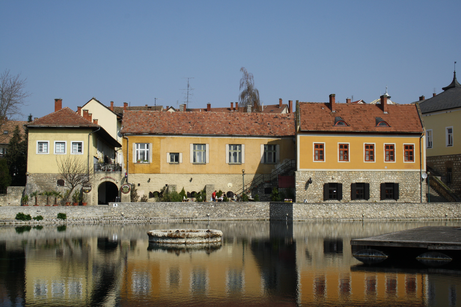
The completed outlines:
[[[116,205],[116,206],[115,206]],[[41,223],[193,220],[460,220],[461,203],[117,203],[109,206],[0,207],[0,222],[18,212]],[[33,222],[33,221],[32,221]]]

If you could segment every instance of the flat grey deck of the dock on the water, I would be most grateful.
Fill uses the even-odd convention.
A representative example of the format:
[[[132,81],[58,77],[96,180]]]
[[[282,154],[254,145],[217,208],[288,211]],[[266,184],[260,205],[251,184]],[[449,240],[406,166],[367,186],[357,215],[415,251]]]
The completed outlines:
[[[350,240],[351,245],[461,250],[461,227],[425,226]]]

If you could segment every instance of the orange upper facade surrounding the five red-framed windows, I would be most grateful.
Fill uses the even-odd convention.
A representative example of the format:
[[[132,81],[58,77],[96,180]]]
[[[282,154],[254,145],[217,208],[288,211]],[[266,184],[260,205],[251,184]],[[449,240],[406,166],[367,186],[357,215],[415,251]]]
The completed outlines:
[[[421,143],[420,143],[421,142]],[[336,171],[420,171],[426,169],[425,139],[415,135],[297,135],[298,170]],[[323,161],[314,161],[314,144],[324,145]],[[339,145],[347,144],[348,161],[340,161]],[[374,145],[374,162],[365,161],[365,145]],[[394,145],[394,162],[385,161],[384,146]],[[414,146],[413,162],[404,161],[404,145]],[[420,156],[422,155],[421,165]]]

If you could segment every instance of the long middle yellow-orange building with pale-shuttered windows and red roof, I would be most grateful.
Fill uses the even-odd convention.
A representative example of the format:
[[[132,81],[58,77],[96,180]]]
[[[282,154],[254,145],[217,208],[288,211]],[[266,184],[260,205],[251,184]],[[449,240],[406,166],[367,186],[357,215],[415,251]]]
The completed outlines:
[[[244,180],[267,199],[295,158],[294,127],[293,114],[125,111],[128,180],[149,196],[165,185],[191,194],[207,186],[208,200],[214,190],[240,194]]]

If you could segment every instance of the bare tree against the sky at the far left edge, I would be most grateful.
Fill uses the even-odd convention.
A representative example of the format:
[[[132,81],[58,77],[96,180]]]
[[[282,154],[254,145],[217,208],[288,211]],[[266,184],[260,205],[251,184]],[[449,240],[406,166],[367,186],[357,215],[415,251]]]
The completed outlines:
[[[21,107],[30,93],[24,91],[26,79],[20,76],[11,75],[9,70],[0,75],[0,126],[13,116],[23,115]]]

